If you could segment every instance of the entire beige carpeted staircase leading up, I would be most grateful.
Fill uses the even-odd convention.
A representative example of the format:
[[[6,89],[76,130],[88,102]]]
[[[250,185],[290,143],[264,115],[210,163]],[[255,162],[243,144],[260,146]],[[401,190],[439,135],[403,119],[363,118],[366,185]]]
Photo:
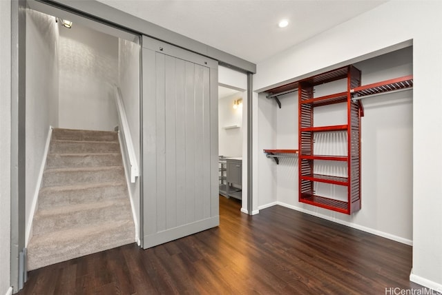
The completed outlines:
[[[117,132],[54,129],[28,270],[135,242]]]

